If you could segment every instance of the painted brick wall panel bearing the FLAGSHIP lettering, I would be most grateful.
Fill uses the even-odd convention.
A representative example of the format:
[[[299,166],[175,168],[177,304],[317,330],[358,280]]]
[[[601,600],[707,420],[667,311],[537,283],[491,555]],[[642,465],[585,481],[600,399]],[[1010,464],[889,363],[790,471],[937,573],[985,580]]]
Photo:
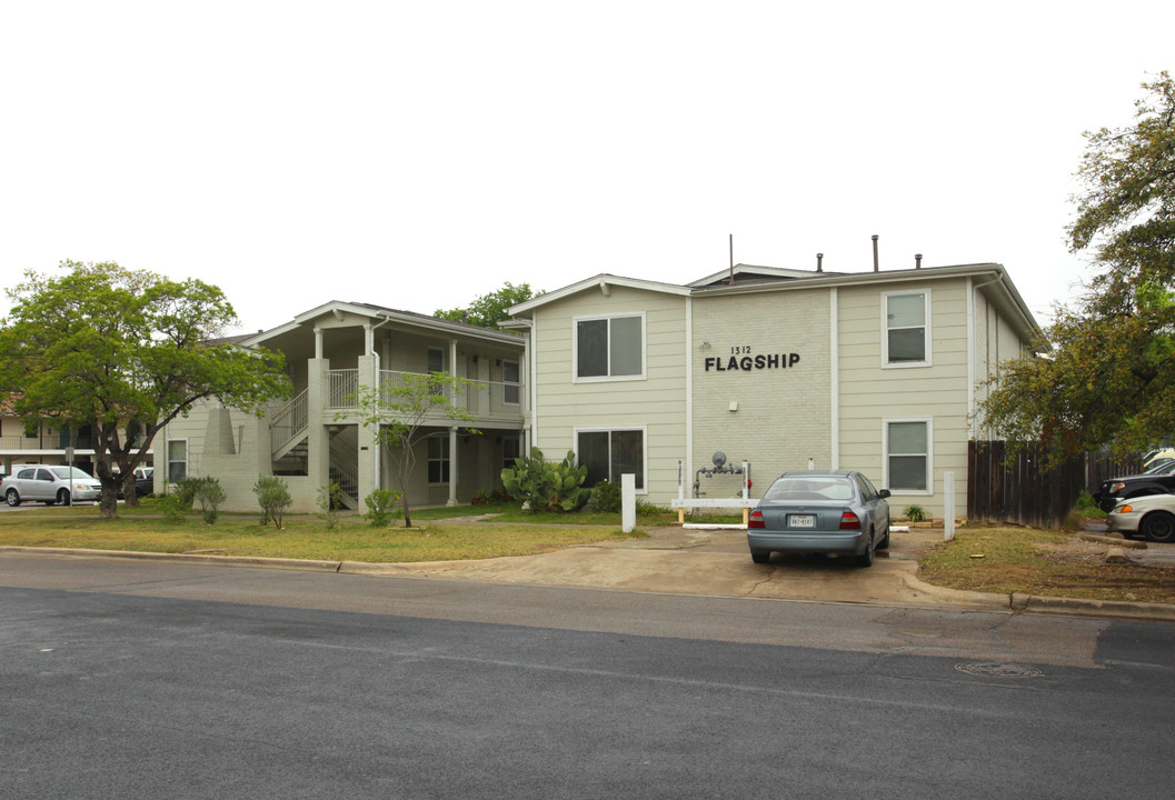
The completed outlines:
[[[751,495],[761,497],[781,472],[807,469],[808,458],[819,469],[831,466],[828,297],[815,289],[693,300],[693,470],[711,466],[714,451],[734,465],[746,459]],[[799,361],[784,367],[791,354]],[[779,356],[780,365],[767,365],[767,356]],[[736,497],[741,485],[737,476],[703,477],[699,484],[709,497]]]

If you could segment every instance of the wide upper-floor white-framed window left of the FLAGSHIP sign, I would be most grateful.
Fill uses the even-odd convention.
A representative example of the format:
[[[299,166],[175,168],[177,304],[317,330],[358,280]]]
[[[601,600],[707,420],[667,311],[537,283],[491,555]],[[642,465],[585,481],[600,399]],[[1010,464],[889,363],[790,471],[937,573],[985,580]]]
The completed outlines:
[[[643,381],[645,314],[576,317],[572,324],[575,383]]]

